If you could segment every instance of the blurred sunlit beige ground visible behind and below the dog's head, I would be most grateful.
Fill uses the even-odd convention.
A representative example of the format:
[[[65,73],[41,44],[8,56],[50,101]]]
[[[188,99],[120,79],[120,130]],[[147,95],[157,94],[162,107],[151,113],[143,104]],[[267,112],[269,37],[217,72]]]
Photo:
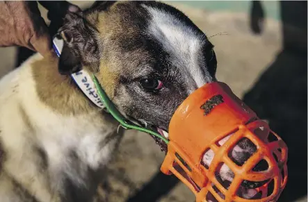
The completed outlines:
[[[186,13],[210,37],[218,59],[217,78],[227,83],[240,98],[254,87],[282,50],[282,24],[274,19],[267,19],[264,32],[254,35],[249,26],[250,18],[245,12],[212,12],[179,2],[168,3]],[[87,3],[79,4],[85,6]],[[0,75],[13,69],[15,53],[15,48],[0,49]],[[305,81],[307,83],[307,77]],[[152,137],[145,133],[127,131],[119,151],[108,166],[106,190],[102,191],[106,194],[106,201],[193,202],[195,196],[184,184],[177,183],[172,176],[159,174],[163,158],[164,154]],[[305,193],[301,196],[305,196]],[[288,197],[286,199],[289,201],[299,201]],[[307,201],[307,198],[302,201]]]

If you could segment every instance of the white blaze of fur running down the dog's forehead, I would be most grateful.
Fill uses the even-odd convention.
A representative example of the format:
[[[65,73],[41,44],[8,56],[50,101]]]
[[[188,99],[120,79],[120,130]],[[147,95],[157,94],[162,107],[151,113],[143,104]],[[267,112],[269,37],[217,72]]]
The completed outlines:
[[[149,34],[162,44],[166,52],[170,53],[172,65],[178,67],[186,76],[186,82],[190,88],[188,91],[204,85],[205,78],[210,76],[204,75],[201,63],[198,61],[203,57],[202,35],[164,10],[143,6],[152,15],[148,27]]]

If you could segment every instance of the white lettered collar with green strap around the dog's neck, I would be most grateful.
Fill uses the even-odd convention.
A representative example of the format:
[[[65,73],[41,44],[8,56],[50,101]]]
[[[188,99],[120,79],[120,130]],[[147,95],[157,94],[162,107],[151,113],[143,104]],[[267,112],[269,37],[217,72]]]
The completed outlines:
[[[63,50],[63,44],[64,40],[62,38],[54,37],[52,46],[58,57],[60,57]],[[149,133],[150,135],[159,137],[159,139],[163,140],[165,144],[168,144],[169,141],[159,133],[151,131],[147,128],[140,127],[136,124],[131,123],[131,121],[125,119],[125,117],[119,112],[119,110],[117,110],[113,102],[108,98],[108,95],[103,90],[102,85],[100,85],[94,74],[91,75],[88,73],[88,71],[81,69],[81,71],[77,71],[70,76],[74,80],[76,85],[79,87],[79,89],[83,92],[83,94],[85,94],[88,99],[92,101],[92,103],[94,103],[97,107],[109,112],[113,116],[113,118],[120,123],[120,126],[125,129],[135,129],[138,131]]]

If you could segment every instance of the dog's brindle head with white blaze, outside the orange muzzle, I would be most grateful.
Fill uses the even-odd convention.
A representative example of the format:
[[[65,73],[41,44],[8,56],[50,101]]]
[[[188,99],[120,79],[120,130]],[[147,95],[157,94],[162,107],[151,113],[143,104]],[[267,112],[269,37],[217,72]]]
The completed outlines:
[[[122,115],[161,134],[189,94],[216,81],[213,44],[186,15],[163,3],[99,1],[68,14],[60,34],[66,40],[61,74],[87,68]],[[243,152],[234,159],[245,159],[251,146],[239,145]],[[220,175],[234,177],[229,169]]]

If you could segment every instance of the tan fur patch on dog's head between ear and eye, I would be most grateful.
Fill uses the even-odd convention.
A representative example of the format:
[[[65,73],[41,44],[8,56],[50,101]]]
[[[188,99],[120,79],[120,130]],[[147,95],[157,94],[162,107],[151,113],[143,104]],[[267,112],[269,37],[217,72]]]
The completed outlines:
[[[138,65],[148,62],[149,57],[143,49],[131,51],[129,55],[123,55],[120,46],[122,39],[132,40],[138,37],[138,29],[127,23],[125,19],[128,12],[123,12],[117,6],[129,6],[126,1],[116,2],[106,12],[92,13],[87,19],[95,24],[104,40],[100,71],[97,78],[102,83],[108,96],[113,99],[115,87],[120,81],[120,74],[132,74]],[[122,58],[119,60],[118,58]]]

